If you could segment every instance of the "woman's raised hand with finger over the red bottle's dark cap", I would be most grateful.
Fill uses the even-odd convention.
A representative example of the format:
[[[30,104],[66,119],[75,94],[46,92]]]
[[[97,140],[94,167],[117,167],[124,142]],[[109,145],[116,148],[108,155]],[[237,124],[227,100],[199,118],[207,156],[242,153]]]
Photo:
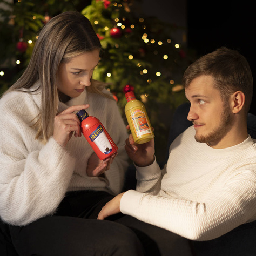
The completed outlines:
[[[73,112],[87,109],[88,107],[88,104],[71,106],[57,114],[54,119],[53,138],[60,146],[66,146],[73,132],[75,132],[75,137],[81,137],[80,120]]]

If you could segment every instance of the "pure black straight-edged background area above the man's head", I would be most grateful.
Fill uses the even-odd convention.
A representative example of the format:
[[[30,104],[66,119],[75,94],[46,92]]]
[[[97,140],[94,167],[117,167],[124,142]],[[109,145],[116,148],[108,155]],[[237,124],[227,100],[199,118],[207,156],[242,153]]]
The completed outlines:
[[[253,1],[187,0],[187,45],[199,55],[226,46],[244,55],[252,70],[254,93],[250,112],[256,114],[256,60]]]

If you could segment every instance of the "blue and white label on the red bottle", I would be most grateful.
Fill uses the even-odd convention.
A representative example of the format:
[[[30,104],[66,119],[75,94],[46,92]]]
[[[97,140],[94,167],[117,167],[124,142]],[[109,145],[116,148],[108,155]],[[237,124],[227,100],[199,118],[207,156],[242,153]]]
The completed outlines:
[[[109,154],[112,151],[111,144],[107,138],[102,125],[99,125],[89,136],[91,142],[94,142],[98,149],[104,153]]]

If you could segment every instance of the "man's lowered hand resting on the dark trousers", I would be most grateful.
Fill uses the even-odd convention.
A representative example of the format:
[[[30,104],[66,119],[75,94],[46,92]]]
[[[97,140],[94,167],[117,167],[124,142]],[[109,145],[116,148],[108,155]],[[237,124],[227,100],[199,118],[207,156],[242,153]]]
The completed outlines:
[[[98,220],[104,220],[105,218],[120,213],[120,202],[121,198],[125,192],[118,194],[112,200],[106,203],[105,206],[102,207],[102,210],[99,212]]]

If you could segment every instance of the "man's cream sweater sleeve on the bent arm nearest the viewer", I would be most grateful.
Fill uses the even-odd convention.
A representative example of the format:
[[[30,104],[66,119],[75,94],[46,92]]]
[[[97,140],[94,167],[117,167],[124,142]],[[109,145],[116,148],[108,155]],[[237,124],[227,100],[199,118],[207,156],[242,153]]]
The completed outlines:
[[[204,201],[127,191],[120,203],[124,214],[165,228],[191,240],[211,240],[255,217],[256,174],[239,170]]]

